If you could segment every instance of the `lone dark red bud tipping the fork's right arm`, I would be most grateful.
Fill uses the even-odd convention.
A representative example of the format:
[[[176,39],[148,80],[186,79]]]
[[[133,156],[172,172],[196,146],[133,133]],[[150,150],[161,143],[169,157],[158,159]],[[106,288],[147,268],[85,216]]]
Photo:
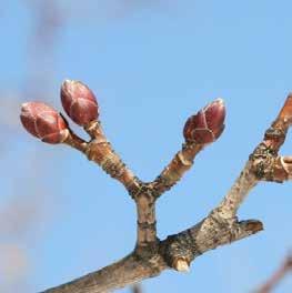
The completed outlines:
[[[224,102],[218,99],[188,119],[183,129],[185,141],[200,144],[215,141],[224,130]]]

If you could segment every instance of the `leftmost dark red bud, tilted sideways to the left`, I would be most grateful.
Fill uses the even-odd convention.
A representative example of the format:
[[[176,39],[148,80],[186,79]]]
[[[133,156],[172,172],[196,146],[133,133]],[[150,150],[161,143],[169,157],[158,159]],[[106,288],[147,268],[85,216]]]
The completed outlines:
[[[23,103],[20,120],[29,133],[43,142],[61,143],[69,134],[63,118],[54,109],[41,102]]]

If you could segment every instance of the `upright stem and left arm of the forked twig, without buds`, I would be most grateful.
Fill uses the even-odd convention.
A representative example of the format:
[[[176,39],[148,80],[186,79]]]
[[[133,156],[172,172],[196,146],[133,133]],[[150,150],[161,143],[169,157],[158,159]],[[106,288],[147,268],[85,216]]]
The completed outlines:
[[[64,143],[84,153],[89,160],[98,163],[103,171],[120,181],[137,204],[138,214],[138,246],[157,245],[155,198],[152,188],[142,183],[133,172],[122,162],[108,142],[99,121],[92,121],[84,127],[91,137],[90,142],[79,138],[69,128],[69,135]]]

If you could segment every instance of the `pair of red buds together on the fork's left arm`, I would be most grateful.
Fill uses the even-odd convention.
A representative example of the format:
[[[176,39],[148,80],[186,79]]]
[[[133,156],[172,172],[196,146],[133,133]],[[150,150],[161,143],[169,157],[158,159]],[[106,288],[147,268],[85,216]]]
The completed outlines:
[[[61,102],[66,113],[79,125],[87,125],[99,117],[92,91],[80,81],[66,80],[61,87]],[[42,102],[27,102],[21,107],[20,120],[33,137],[48,143],[61,143],[69,135],[64,118]]]

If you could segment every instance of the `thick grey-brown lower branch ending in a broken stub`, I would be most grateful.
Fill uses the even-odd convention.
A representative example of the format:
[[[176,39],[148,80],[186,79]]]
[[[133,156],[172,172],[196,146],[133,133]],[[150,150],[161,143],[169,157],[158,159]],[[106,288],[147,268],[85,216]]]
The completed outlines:
[[[165,269],[179,270],[175,266],[178,261],[183,260],[189,266],[194,257],[204,252],[261,230],[262,224],[256,221],[220,223],[207,218],[190,230],[160,242],[158,251],[149,246],[134,251],[112,265],[43,293],[101,293],[123,287],[157,276]]]

